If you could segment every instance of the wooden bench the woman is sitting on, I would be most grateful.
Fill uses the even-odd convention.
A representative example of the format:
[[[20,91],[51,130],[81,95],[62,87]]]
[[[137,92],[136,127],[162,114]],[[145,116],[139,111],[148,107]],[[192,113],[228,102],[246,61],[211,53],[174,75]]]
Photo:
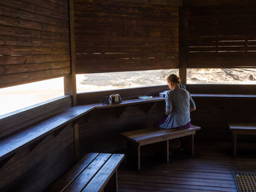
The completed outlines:
[[[122,135],[128,140],[129,150],[135,150],[138,159],[138,169],[140,169],[140,147],[143,145],[149,145],[157,142],[166,142],[166,161],[169,162],[169,140],[181,137],[191,136],[189,138],[188,149],[192,155],[194,155],[194,135],[195,131],[200,130],[198,126],[192,126],[190,128],[146,128],[136,131],[129,131],[122,133]],[[130,151],[131,152],[131,151]]]

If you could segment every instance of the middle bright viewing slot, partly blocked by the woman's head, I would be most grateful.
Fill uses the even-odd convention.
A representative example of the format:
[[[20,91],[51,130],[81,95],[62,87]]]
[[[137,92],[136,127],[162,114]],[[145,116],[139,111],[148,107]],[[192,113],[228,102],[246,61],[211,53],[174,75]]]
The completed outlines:
[[[77,74],[77,91],[81,93],[167,85],[166,77],[173,73],[178,74],[178,69]]]

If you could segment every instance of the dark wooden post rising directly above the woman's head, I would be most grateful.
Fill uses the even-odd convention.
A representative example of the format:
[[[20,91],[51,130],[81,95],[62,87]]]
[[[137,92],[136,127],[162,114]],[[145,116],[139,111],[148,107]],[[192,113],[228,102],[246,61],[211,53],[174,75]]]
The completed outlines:
[[[187,8],[179,7],[179,76],[181,83],[187,85]]]

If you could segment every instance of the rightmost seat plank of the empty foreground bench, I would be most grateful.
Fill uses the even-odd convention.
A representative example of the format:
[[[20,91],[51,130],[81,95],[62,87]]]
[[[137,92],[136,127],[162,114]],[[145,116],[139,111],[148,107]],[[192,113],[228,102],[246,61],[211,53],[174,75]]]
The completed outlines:
[[[104,164],[102,169],[97,172],[94,178],[90,181],[90,183],[83,189],[83,192],[86,191],[102,191],[110,177],[116,172],[116,169],[121,164],[121,161],[124,159],[123,154],[113,154],[108,159],[108,161]],[[114,191],[114,189],[113,189]]]

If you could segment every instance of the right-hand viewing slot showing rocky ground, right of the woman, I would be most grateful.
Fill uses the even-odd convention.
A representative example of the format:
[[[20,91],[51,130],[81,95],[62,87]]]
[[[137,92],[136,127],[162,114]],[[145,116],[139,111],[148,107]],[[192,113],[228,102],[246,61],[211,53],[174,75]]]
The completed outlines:
[[[256,85],[256,69],[187,69],[187,83]]]

